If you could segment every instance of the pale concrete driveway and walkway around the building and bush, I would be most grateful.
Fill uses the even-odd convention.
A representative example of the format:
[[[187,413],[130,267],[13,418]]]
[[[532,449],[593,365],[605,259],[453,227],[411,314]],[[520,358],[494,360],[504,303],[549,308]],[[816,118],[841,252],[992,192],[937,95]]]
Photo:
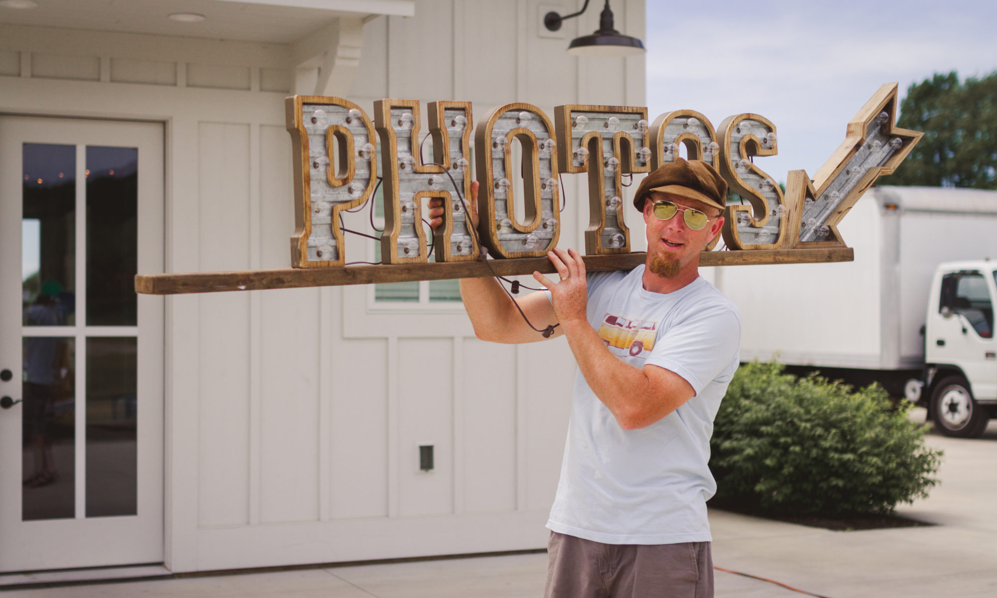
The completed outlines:
[[[923,422],[924,412],[915,418]],[[997,422],[983,439],[928,435],[945,450],[941,483],[898,509],[936,523],[828,531],[711,512],[714,564],[829,598],[997,596]],[[523,598],[543,593],[545,554],[277,573],[14,590],[8,596]],[[773,583],[716,572],[718,598],[803,596]]]

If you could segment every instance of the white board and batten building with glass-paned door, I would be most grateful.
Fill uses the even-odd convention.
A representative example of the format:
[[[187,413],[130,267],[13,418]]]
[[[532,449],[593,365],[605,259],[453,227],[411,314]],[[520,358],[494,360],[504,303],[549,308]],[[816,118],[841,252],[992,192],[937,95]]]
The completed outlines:
[[[0,410],[0,572],[545,546],[563,340],[478,341],[454,282],[136,299],[131,276],[289,266],[290,94],[644,106],[643,57],[565,52],[595,5],[552,34],[580,0],[0,3],[0,395],[29,399]],[[613,9],[644,37],[642,0]]]

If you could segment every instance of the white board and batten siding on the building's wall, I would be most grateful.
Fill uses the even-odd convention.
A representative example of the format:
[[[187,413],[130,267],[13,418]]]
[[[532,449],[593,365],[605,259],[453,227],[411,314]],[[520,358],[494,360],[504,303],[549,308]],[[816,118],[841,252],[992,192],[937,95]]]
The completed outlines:
[[[476,123],[515,101],[551,117],[558,104],[643,106],[644,59],[569,56],[598,11],[551,36],[551,8],[419,0],[414,17],[372,19],[340,95],[368,114],[380,98],[468,100]],[[644,36],[642,1],[613,8],[618,29]],[[281,44],[0,25],[0,110],[164,123],[166,271],[287,267],[291,60]],[[584,178],[563,181],[560,245],[580,247]],[[373,242],[348,235],[346,251],[369,259]],[[545,546],[575,367],[564,341],[485,343],[459,302],[374,297],[167,298],[172,571]],[[433,471],[420,445],[435,447]]]

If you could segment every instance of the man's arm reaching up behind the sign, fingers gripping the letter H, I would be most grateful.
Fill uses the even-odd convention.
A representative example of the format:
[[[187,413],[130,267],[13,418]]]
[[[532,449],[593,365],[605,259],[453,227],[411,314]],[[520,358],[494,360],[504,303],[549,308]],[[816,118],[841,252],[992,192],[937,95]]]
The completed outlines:
[[[471,219],[478,227],[478,181],[471,183]],[[436,229],[443,224],[443,200],[430,200],[430,226]],[[546,340],[519,314],[512,299],[502,290],[495,278],[462,278],[461,299],[464,308],[475,327],[475,336],[483,341],[495,343],[534,343]],[[516,301],[519,309],[529,322],[539,330],[557,324],[554,310],[543,293],[530,293]],[[555,338],[563,334],[560,327],[554,329]]]

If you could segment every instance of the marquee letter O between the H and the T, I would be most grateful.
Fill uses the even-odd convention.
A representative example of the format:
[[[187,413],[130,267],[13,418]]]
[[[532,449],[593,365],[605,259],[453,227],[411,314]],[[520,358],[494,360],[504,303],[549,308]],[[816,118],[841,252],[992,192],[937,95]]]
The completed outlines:
[[[479,230],[496,257],[539,257],[557,246],[560,194],[553,137],[550,120],[530,104],[506,104],[478,125]],[[524,222],[514,210],[512,140],[522,148]]]

